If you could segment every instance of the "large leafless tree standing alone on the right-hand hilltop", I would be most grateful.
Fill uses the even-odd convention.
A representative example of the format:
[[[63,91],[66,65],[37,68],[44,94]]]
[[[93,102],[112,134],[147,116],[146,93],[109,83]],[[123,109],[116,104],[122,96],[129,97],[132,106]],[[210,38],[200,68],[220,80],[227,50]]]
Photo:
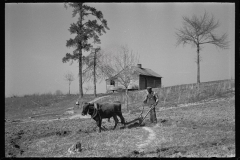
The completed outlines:
[[[192,19],[183,17],[183,28],[176,32],[177,46],[180,44],[191,44],[197,47],[197,83],[200,83],[200,50],[202,45],[213,44],[217,48],[227,49],[227,34],[218,36],[213,31],[219,27],[219,22],[215,22],[214,17],[211,18],[205,12],[203,17],[193,16]]]

